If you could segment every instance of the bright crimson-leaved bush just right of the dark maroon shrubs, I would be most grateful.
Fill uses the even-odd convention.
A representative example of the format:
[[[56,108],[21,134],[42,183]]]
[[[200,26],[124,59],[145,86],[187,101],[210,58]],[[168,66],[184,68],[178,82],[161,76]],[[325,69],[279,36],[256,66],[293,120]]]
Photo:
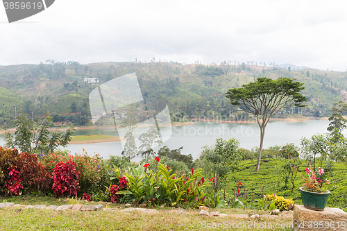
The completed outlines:
[[[80,189],[79,178],[81,173],[76,170],[76,163],[71,160],[66,163],[58,162],[53,169],[53,187],[56,198],[60,196],[77,196]]]

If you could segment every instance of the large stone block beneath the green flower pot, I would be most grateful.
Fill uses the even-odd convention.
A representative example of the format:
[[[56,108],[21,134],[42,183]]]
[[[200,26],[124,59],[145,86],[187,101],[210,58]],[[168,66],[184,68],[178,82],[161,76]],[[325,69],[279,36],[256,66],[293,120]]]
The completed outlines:
[[[323,211],[314,211],[303,205],[294,205],[293,220],[294,230],[347,230],[347,225],[341,225],[346,224],[347,213],[335,207],[325,207]],[[322,224],[323,229],[314,228],[315,221],[318,225]]]

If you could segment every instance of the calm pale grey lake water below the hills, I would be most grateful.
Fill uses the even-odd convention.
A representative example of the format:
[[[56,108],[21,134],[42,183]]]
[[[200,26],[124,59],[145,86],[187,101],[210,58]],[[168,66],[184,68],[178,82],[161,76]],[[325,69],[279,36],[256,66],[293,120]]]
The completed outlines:
[[[310,138],[312,135],[327,132],[329,121],[310,120],[303,122],[273,121],[266,126],[264,137],[264,148],[294,143],[297,146],[301,143],[301,137]],[[143,132],[146,132],[144,128]],[[76,135],[85,134],[117,135],[115,129],[87,129],[77,130]],[[201,148],[205,145],[214,144],[219,137],[229,139],[230,137],[239,139],[240,147],[251,149],[259,146],[260,129],[257,123],[207,123],[201,122],[189,126],[172,127],[172,136],[162,146],[169,148],[180,148],[183,146],[183,154],[192,154],[194,159],[201,153]],[[0,135],[0,146],[3,146],[3,135]],[[100,153],[104,158],[110,155],[121,155],[121,142],[105,142],[95,144],[69,144],[67,149],[71,153],[81,153],[82,149],[89,154]],[[157,151],[158,148],[155,148]],[[139,160],[139,158],[134,159]]]

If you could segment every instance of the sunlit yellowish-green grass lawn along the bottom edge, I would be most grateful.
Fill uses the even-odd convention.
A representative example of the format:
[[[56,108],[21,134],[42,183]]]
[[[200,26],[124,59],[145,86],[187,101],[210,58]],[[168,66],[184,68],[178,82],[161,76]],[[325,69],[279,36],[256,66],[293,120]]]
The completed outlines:
[[[0,198],[2,202],[3,198]],[[17,196],[7,198],[7,202],[20,203],[21,205],[67,205],[68,202],[56,198],[39,196]],[[81,203],[81,201],[70,200],[69,203]],[[83,202],[86,203],[86,202]],[[96,204],[96,203],[90,203]],[[103,205],[105,208],[106,206]],[[54,211],[49,209],[24,209],[18,207],[8,207],[0,209],[0,230],[226,230],[226,226],[232,224],[252,224],[264,225],[289,225],[293,223],[291,218],[278,216],[276,220],[260,219],[240,219],[232,216],[208,217],[198,214],[198,209],[187,209],[187,213],[178,214],[176,209],[164,207],[156,214],[149,214],[138,211],[124,212],[124,205],[112,204],[111,211],[98,212],[73,212],[71,210]],[[153,207],[152,207],[153,209]],[[244,209],[210,209],[225,214],[265,214],[266,212]],[[207,228],[207,225],[211,228]],[[212,228],[212,225],[220,225],[219,228]],[[259,230],[257,226],[244,228],[243,230]],[[232,228],[228,228],[228,230]],[[235,229],[233,229],[235,230]],[[242,230],[242,229],[241,229]],[[266,230],[266,229],[265,229]],[[281,230],[281,229],[276,229]]]

